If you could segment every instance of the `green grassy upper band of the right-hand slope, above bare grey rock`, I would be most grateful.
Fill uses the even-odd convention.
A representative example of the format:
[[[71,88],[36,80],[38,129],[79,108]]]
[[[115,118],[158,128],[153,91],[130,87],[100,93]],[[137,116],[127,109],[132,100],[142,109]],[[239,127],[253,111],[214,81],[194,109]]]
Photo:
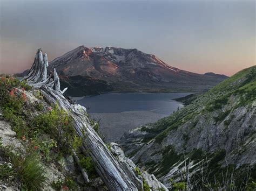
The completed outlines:
[[[256,66],[241,70],[229,79],[221,82],[207,93],[199,96],[192,104],[177,111],[175,114],[160,119],[149,128],[143,127],[144,131],[157,132],[157,142],[166,137],[167,133],[192,119],[196,115],[207,115],[212,111],[220,110],[228,103],[231,96],[237,96],[237,102],[232,105],[234,110],[242,105],[252,104],[256,100]],[[221,116],[219,116],[222,119]]]

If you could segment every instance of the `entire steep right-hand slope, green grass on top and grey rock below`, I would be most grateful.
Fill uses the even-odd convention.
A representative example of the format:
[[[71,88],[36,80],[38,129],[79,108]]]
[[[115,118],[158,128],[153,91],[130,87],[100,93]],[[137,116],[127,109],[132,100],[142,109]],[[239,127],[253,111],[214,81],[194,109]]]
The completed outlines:
[[[233,184],[245,189],[249,182],[255,188],[255,108],[253,66],[173,115],[131,130],[120,143],[134,162],[157,174],[167,187],[174,187],[174,182],[188,185],[190,180],[194,189],[207,190],[206,183],[211,188]]]

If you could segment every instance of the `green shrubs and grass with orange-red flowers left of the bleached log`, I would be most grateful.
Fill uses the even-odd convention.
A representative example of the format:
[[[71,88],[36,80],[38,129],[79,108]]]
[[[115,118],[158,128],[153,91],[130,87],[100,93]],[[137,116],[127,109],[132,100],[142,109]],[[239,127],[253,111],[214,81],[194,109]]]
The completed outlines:
[[[0,153],[6,160],[5,165],[0,166],[1,180],[16,181],[24,190],[39,190],[47,180],[44,166],[54,163],[63,171],[59,161],[66,155],[72,155],[73,151],[90,178],[97,177],[89,154],[84,156],[79,150],[83,140],[76,134],[72,117],[58,105],[47,104],[40,90],[14,77],[1,76],[0,109],[25,148],[24,152],[0,147]],[[48,186],[57,190],[77,190],[81,185],[65,173],[65,180]]]

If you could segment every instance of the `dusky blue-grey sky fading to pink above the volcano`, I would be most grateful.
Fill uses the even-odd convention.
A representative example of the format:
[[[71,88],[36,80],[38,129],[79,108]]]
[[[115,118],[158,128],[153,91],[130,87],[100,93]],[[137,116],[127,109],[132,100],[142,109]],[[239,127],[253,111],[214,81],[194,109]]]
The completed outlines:
[[[255,1],[0,0],[0,73],[80,45],[137,48],[173,67],[232,75],[255,65]]]

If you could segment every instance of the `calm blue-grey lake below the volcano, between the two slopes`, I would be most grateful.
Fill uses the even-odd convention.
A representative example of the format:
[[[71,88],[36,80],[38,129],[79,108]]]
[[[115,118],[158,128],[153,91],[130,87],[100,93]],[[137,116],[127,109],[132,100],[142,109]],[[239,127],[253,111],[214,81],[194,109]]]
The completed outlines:
[[[110,93],[77,99],[77,103],[86,107],[92,118],[100,120],[106,142],[116,142],[126,131],[156,122],[182,108],[183,104],[173,99],[189,94]]]

